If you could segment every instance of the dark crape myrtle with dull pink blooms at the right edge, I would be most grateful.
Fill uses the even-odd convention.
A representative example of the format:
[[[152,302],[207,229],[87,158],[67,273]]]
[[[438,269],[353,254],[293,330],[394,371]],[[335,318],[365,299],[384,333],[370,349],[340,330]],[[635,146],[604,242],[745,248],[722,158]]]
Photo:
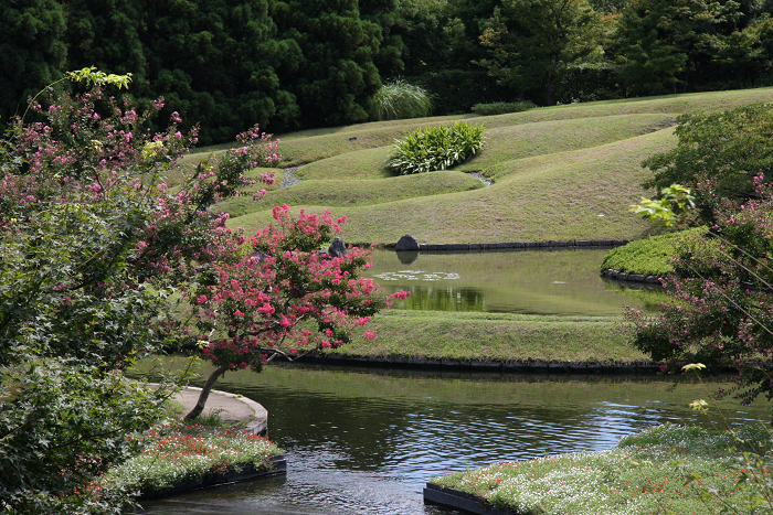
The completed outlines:
[[[709,235],[678,245],[674,273],[663,280],[674,300],[661,314],[627,312],[635,345],[664,371],[731,367],[743,403],[761,394],[773,400],[773,192],[761,186],[758,194],[742,205],[720,202]]]

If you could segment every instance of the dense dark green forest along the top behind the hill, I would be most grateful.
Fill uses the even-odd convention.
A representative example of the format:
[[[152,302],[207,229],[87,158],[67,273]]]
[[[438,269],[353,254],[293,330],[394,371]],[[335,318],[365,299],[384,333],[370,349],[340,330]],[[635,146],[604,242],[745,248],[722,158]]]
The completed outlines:
[[[64,71],[134,74],[201,142],[366,121],[382,84],[434,114],[773,84],[770,0],[9,0],[0,116]]]

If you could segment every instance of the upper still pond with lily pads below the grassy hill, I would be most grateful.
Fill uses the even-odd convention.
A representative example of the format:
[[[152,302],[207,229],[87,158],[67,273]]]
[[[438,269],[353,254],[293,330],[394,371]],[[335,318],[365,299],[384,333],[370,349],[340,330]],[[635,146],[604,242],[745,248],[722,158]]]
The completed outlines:
[[[648,313],[667,300],[644,285],[603,279],[605,249],[487,253],[375,250],[366,272],[388,293],[407,290],[398,309],[552,315],[621,315],[623,305]]]

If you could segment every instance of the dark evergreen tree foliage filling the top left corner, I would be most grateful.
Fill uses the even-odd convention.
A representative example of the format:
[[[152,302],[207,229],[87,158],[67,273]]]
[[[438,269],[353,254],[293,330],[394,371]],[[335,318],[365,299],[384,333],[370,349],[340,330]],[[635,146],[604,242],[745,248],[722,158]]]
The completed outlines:
[[[0,117],[9,119],[61,77],[65,10],[56,0],[11,0],[0,4]]]

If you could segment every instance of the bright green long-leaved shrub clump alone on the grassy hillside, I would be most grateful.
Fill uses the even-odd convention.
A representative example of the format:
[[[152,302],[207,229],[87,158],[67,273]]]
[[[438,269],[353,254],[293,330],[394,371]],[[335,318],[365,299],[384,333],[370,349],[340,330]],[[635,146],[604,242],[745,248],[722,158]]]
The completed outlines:
[[[445,170],[483,149],[483,131],[484,126],[463,121],[414,130],[394,142],[386,165],[401,175]]]

